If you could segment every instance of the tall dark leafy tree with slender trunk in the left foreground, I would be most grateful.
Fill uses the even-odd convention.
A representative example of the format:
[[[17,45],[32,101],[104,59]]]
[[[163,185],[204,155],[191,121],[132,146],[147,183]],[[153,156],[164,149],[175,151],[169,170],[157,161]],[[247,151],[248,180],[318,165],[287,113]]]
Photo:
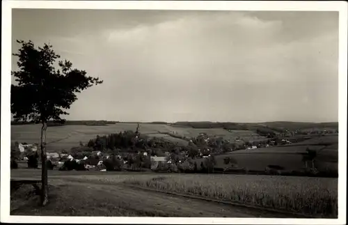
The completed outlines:
[[[58,61],[60,58],[52,45],[36,48],[29,40],[17,40],[21,45],[13,54],[19,59],[19,70],[12,71],[17,85],[11,85],[11,112],[15,121],[31,121],[42,124],[40,134],[40,152],[42,160],[42,196],[41,203],[48,203],[48,183],[46,165],[46,130],[50,120],[64,121],[61,115],[68,115],[65,109],[77,100],[76,93],[90,86],[102,84],[102,80],[89,77],[84,70],[72,68],[70,61]]]

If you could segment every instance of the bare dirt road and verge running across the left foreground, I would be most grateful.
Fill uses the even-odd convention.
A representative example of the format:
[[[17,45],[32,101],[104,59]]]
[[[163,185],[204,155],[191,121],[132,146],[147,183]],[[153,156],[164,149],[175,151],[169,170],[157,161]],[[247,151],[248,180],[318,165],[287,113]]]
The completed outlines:
[[[37,205],[28,207],[22,201],[21,204],[17,204],[19,201],[14,200],[11,205],[11,215],[289,217],[263,210],[133,189],[122,185],[122,180],[103,183],[93,179],[77,179],[78,173],[78,171],[65,174],[61,171],[50,172],[49,205],[45,208]],[[95,173],[86,174],[88,173],[84,173],[84,176],[95,176]],[[104,175],[99,172],[98,177],[101,176]],[[40,170],[12,170],[11,178],[40,179]]]

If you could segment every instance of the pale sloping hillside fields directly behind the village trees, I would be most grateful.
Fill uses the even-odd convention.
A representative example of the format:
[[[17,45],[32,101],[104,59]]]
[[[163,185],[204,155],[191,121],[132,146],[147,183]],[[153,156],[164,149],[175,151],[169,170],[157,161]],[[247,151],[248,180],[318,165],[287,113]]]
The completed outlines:
[[[69,150],[74,146],[79,145],[79,141],[87,143],[90,139],[97,135],[111,134],[122,132],[125,130],[136,130],[136,123],[116,123],[104,126],[87,126],[87,125],[65,125],[57,127],[47,127],[47,151],[54,150]],[[40,143],[40,125],[11,125],[11,141]],[[217,129],[195,129],[191,127],[171,127],[170,125],[141,123],[141,133],[152,135],[160,135],[169,141],[187,144],[183,139],[171,137],[168,134],[173,133],[185,137],[196,137],[201,132],[206,132],[208,135],[216,135],[224,139],[235,139],[236,137],[245,137],[248,139],[262,139],[258,134],[251,131],[233,131],[228,132],[222,128]]]

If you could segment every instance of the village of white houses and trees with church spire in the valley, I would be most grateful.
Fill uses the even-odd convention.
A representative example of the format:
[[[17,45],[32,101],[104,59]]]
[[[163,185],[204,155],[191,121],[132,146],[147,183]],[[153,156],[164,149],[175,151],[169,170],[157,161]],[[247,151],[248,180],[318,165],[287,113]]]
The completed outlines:
[[[173,134],[176,134],[173,132]],[[115,139],[112,135],[121,135],[123,142],[132,142],[130,146],[118,143],[110,143]],[[90,140],[87,144],[79,143],[79,147],[70,150],[60,150],[47,153],[48,169],[58,170],[131,170],[152,171],[171,170],[173,166],[189,167],[194,165],[194,160],[209,161],[209,157],[235,150],[253,150],[257,148],[269,148],[277,145],[290,145],[292,141],[285,137],[295,137],[298,132],[284,132],[278,137],[266,141],[244,141],[240,137],[235,140],[226,140],[221,137],[208,136],[200,133],[198,137],[189,138],[188,146],[177,146],[177,143],[168,143],[159,138],[149,139],[140,133],[139,124],[136,132],[127,131],[120,134],[109,134]],[[295,139],[296,140],[296,139]],[[122,141],[121,141],[122,142]],[[19,167],[40,168],[40,148],[38,143],[17,143],[13,146],[14,152],[11,165],[15,169]],[[15,153],[17,152],[17,154]],[[16,160],[14,160],[15,158]],[[193,160],[193,161],[192,161]],[[198,160],[201,162],[202,160]],[[201,167],[204,167],[201,164]],[[172,169],[175,171],[175,169]]]

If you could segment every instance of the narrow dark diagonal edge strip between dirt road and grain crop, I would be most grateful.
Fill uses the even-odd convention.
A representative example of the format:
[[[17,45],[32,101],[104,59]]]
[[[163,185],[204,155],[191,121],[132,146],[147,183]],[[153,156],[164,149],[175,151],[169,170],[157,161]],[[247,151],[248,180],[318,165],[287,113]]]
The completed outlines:
[[[216,203],[223,203],[226,205],[232,205],[232,206],[238,206],[238,207],[243,207],[243,208],[249,208],[249,209],[253,209],[253,210],[261,210],[261,211],[267,211],[267,212],[274,212],[274,213],[279,213],[279,214],[283,214],[283,215],[289,215],[289,216],[293,216],[293,218],[322,218],[319,215],[305,215],[302,213],[298,213],[298,212],[289,212],[286,210],[276,210],[274,208],[263,208],[260,206],[256,206],[256,205],[244,205],[242,203],[237,203],[237,202],[232,202],[232,201],[223,201],[223,200],[218,200],[218,199],[209,199],[209,198],[205,198],[202,196],[195,196],[195,195],[191,195],[191,194],[180,194],[177,192],[168,192],[168,191],[163,191],[163,190],[159,190],[159,189],[152,189],[152,188],[148,188],[148,187],[139,187],[136,185],[128,185],[125,183],[120,183],[120,185],[125,185],[126,187],[131,187],[131,188],[135,188],[135,189],[142,189],[142,190],[146,190],[149,192],[159,192],[159,193],[163,193],[163,194],[171,194],[171,195],[175,195],[175,196],[182,196],[185,198],[189,198],[189,199],[199,199],[199,200],[203,200],[203,201],[210,201],[210,202],[216,202]],[[295,217],[294,217],[295,216]],[[330,217],[328,217],[330,218]]]

